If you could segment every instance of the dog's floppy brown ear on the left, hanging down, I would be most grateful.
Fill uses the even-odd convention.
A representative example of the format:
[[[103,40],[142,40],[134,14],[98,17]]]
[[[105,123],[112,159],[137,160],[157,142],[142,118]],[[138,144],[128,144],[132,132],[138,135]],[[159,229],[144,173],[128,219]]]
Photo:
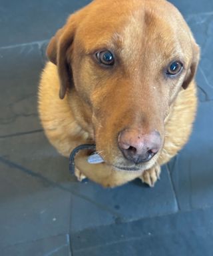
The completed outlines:
[[[60,91],[59,97],[63,99],[67,89],[73,84],[71,65],[67,59],[67,51],[72,46],[75,35],[75,23],[71,16],[66,25],[59,29],[47,46],[47,57],[57,65]]]

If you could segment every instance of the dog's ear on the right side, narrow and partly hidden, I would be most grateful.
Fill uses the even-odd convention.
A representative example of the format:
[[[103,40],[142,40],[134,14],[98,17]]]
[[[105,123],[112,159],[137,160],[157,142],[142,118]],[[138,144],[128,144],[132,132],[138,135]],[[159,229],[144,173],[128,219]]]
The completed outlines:
[[[198,67],[198,62],[200,59],[200,47],[195,43],[194,39],[192,42],[192,62],[190,68],[186,74],[184,79],[184,83],[182,84],[183,89],[186,89],[188,85],[191,83],[192,79],[196,75],[196,70]]]

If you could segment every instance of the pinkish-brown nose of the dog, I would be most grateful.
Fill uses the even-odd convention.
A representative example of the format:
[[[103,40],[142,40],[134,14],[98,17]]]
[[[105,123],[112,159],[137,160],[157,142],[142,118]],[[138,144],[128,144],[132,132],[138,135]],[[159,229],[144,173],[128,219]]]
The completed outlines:
[[[160,133],[152,131],[149,134],[142,134],[137,129],[126,129],[119,133],[118,145],[126,159],[134,163],[144,163],[160,150]]]

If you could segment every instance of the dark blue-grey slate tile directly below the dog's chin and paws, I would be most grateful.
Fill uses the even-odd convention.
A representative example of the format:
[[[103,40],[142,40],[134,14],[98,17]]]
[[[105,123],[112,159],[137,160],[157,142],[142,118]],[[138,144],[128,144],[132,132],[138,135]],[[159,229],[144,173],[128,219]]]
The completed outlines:
[[[89,199],[85,204],[85,201],[73,197],[71,233],[178,210],[166,168],[154,189],[143,185],[139,179],[114,189],[103,189],[92,182],[74,183],[73,186],[78,195],[87,196]]]

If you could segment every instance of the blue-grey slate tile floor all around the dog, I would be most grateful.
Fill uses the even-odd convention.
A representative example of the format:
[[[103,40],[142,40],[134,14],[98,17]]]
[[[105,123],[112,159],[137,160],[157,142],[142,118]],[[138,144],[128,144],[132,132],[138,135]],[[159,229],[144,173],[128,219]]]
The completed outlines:
[[[45,47],[89,0],[0,0],[0,255],[213,255],[213,1],[172,0],[202,48],[190,141],[154,189],[79,183],[45,138]]]

